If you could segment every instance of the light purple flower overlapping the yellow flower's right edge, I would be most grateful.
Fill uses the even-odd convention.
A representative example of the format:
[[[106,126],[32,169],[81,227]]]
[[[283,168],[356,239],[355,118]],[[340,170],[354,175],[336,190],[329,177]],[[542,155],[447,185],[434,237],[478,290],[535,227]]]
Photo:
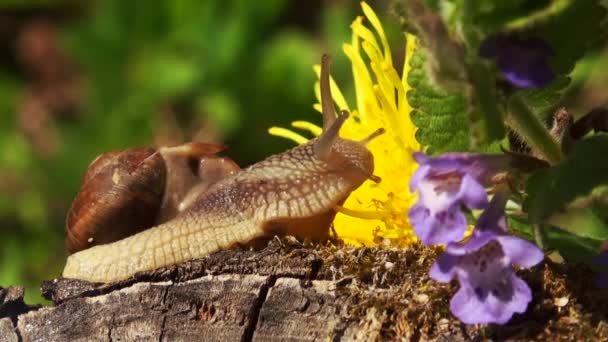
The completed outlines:
[[[429,158],[414,153],[420,168],[410,180],[410,191],[418,190],[418,202],[408,215],[414,232],[425,245],[462,239],[467,219],[461,206],[485,208],[484,184],[508,159],[502,155],[447,153]]]

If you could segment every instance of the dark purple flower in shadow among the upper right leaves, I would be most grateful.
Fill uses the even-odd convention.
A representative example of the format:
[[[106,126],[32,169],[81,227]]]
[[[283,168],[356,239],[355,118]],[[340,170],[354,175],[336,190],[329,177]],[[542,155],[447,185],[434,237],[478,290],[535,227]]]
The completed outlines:
[[[494,59],[504,77],[521,88],[544,87],[555,78],[548,62],[554,52],[539,38],[492,35],[481,43],[479,55]]]

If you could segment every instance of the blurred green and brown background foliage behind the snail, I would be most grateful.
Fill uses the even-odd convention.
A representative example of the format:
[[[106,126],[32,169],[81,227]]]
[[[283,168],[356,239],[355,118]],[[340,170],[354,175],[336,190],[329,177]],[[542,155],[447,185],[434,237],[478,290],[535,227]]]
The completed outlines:
[[[388,0],[370,4],[389,16]],[[321,121],[322,53],[352,93],[341,48],[359,14],[346,0],[0,0],[0,286],[42,301],[70,201],[104,151],[216,141],[245,166],[290,147],[267,128]],[[576,70],[569,104],[606,103],[602,56]]]

